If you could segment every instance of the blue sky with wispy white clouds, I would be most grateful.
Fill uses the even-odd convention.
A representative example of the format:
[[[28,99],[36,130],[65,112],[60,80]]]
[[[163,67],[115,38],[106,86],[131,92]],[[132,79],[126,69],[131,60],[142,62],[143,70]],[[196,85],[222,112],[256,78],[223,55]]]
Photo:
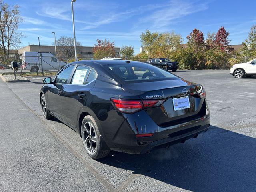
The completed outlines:
[[[70,0],[7,0],[18,4],[25,22],[19,30],[25,34],[22,45],[52,44],[60,36],[73,36]],[[255,0],[76,0],[74,17],[76,40],[93,46],[96,39],[110,39],[116,46],[132,45],[140,51],[140,34],[146,29],[174,30],[186,36],[198,28],[216,32],[224,26],[231,44],[241,44],[250,27],[256,24]]]

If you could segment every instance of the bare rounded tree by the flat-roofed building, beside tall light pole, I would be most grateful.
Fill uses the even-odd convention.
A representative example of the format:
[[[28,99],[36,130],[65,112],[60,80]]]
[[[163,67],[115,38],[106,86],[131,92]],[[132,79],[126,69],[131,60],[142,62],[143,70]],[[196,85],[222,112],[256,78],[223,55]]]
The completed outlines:
[[[54,43],[53,43],[54,44]],[[74,57],[74,39],[72,37],[61,36],[56,40],[58,46],[58,55],[62,57]],[[76,41],[76,46],[82,46],[79,41]]]

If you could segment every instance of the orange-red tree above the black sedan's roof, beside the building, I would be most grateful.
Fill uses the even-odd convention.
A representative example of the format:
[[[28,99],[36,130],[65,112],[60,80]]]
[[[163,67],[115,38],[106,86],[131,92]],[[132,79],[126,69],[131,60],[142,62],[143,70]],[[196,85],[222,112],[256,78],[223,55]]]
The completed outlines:
[[[94,48],[92,48],[94,58],[115,56],[116,52],[114,46],[114,42],[110,42],[110,40],[97,39],[97,43],[94,44]]]

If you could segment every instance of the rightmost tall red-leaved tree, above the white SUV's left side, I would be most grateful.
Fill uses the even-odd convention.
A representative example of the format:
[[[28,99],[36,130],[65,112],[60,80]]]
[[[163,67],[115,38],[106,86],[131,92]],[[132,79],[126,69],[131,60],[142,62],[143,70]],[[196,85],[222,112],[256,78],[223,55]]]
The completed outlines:
[[[228,39],[228,35],[229,32],[226,32],[225,28],[221,26],[214,37],[214,45],[219,47],[220,50],[232,51],[231,40]]]

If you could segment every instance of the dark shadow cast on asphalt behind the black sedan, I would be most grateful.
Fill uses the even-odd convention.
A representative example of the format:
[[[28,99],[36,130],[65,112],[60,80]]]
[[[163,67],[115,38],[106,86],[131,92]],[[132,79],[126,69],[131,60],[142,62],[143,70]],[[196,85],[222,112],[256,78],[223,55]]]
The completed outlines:
[[[191,191],[256,189],[256,139],[216,126],[169,149],[111,152],[98,161]]]

